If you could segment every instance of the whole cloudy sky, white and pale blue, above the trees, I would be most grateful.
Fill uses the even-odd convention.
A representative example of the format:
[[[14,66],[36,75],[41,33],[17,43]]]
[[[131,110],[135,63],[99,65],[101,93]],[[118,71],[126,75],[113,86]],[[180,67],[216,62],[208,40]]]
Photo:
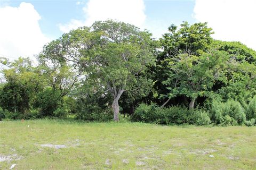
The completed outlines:
[[[207,21],[213,38],[256,50],[255,6],[255,0],[1,0],[0,56],[33,57],[63,32],[107,19],[148,29],[155,38],[172,23]]]

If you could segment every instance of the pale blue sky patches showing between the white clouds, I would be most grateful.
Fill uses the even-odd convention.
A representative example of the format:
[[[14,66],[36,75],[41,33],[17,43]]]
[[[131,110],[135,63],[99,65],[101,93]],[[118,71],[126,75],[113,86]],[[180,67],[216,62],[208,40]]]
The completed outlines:
[[[83,7],[87,1],[6,1],[13,7],[19,7],[21,2],[33,4],[35,10],[41,15],[39,25],[42,32],[51,38],[58,38],[62,35],[59,29],[60,23],[67,23],[70,19],[82,20]],[[80,3],[78,3],[80,2]],[[162,33],[172,24],[180,24],[182,21],[194,23],[196,20],[192,17],[194,1],[191,0],[148,0],[145,2],[146,23],[161,22]],[[78,5],[79,4],[79,5]],[[150,28],[147,28],[150,29]],[[157,32],[157,37],[159,37]]]

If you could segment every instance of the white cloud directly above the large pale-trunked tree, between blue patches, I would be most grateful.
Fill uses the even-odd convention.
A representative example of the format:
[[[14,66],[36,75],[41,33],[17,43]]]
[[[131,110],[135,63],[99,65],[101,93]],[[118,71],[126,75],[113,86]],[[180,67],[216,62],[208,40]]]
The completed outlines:
[[[84,20],[71,20],[59,24],[62,32],[68,32],[81,26],[90,26],[94,21],[114,19],[142,27],[145,20],[143,0],[89,0],[83,8]]]

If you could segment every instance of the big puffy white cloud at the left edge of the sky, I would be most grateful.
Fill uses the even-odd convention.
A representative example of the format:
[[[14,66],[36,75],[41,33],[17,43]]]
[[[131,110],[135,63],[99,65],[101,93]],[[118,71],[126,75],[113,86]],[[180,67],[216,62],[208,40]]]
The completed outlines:
[[[0,7],[0,54],[12,59],[38,54],[49,41],[39,27],[40,19],[30,3]]]

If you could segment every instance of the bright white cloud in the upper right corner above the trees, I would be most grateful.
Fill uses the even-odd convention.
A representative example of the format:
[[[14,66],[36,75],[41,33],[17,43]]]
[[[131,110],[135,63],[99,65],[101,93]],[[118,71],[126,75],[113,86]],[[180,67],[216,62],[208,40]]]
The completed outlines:
[[[213,38],[241,41],[256,50],[255,0],[196,0],[194,17],[208,22]]]

